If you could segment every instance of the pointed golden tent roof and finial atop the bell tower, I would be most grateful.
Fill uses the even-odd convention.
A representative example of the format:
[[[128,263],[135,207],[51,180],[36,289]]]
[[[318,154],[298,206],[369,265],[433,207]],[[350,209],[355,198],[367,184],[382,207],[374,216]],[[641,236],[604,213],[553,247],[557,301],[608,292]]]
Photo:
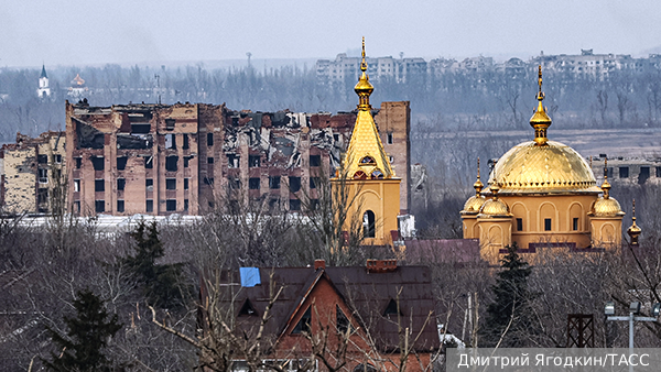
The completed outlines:
[[[367,63],[365,62],[365,37],[362,37],[362,75],[356,84],[356,94],[359,97],[356,125],[351,132],[351,140],[344,158],[344,167],[349,178],[391,178],[394,169],[383,150],[379,130],[371,116],[369,95],[375,90],[367,77]]]

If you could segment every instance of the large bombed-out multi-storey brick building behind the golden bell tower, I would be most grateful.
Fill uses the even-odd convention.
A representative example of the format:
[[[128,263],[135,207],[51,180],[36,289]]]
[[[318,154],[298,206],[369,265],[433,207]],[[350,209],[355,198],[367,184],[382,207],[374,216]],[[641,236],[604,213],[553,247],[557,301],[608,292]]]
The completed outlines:
[[[382,102],[373,114],[402,178],[400,205],[407,214],[409,102]],[[85,216],[199,215],[225,200],[248,198],[267,198],[274,208],[296,211],[303,196],[315,197],[319,177],[332,176],[339,166],[355,122],[355,112],[67,101],[68,200]]]

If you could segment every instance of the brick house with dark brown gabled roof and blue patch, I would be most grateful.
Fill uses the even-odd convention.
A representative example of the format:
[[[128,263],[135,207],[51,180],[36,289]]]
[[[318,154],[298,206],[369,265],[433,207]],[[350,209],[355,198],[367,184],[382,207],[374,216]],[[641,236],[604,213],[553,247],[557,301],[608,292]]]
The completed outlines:
[[[203,285],[202,298],[218,297],[203,302],[219,304],[213,314],[229,315],[225,321],[236,325],[242,338],[256,337],[269,311],[261,343],[267,363],[304,363],[313,355],[313,370],[327,371],[321,360],[325,358],[334,365],[346,363],[342,371],[398,371],[404,354],[407,371],[431,371],[440,351],[427,266],[368,260],[366,266],[332,267],[317,260],[314,267],[224,272],[219,283],[214,288]],[[213,326],[208,315],[201,310],[203,331]],[[338,353],[343,346],[346,353]],[[203,363],[207,354],[201,353]],[[235,370],[242,366],[238,361]]]

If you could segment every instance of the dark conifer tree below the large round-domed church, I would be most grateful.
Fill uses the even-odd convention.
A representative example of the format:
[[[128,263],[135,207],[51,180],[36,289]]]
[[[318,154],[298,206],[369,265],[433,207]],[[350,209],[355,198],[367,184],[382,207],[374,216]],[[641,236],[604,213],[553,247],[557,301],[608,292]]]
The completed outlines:
[[[532,266],[517,253],[517,243],[507,247],[500,260],[500,272],[491,287],[494,303],[487,307],[483,340],[486,347],[517,348],[531,346],[538,326],[531,314],[531,303],[537,296],[528,289]]]

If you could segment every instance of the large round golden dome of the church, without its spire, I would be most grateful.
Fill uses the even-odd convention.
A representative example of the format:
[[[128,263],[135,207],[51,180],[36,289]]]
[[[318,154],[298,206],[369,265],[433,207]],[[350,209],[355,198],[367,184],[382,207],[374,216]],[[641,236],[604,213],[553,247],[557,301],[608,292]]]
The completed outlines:
[[[489,184],[498,179],[503,194],[598,194],[587,162],[572,147],[555,141],[523,142],[502,155]]]

